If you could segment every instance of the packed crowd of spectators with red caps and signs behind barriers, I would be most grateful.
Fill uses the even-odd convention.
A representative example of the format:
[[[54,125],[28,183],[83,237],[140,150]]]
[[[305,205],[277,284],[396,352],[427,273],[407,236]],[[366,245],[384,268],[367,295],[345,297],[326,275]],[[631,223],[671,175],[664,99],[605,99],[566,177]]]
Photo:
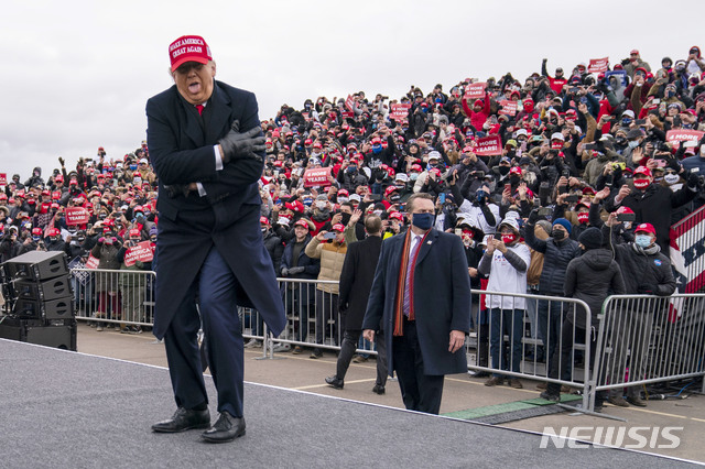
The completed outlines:
[[[477,85],[468,78],[447,94],[438,84],[425,92],[411,86],[399,99],[359,91],[307,99],[301,108],[283,105],[261,122],[260,222],[278,276],[338,281],[347,247],[366,237],[367,217],[381,219],[382,238],[398,234],[408,228],[408,198],[427,193],[434,227],[463,240],[474,288],[573,295],[574,287],[566,291],[571,262],[608,248],[621,252],[622,276],[631,275],[608,290],[670,294],[672,276],[663,269],[651,276],[632,272],[643,269],[632,258],[668,264],[671,225],[705,204],[705,138],[692,140],[705,130],[705,59],[697,46],[683,55],[652,67],[633,50],[606,72],[578,63],[553,75],[544,59],[541,72],[523,80],[507,74],[481,81],[480,98],[466,96]],[[399,113],[398,105],[408,111]],[[690,137],[679,140],[672,131]],[[482,146],[489,137],[500,139],[495,152]],[[46,178],[36,167],[25,181],[19,174],[8,181],[0,194],[0,260],[47,250],[84,263],[93,254],[102,268],[150,269],[121,263],[129,247],[158,236],[158,181],[147,143],[120,159],[100,148],[70,170],[61,157],[59,164]],[[85,208],[89,219],[69,223],[72,207]],[[323,343],[325,325],[345,316],[337,285],[296,292],[302,297],[288,295],[288,309],[315,304],[315,342]],[[556,320],[547,318],[558,314],[554,304],[539,302],[530,312],[474,301],[475,309],[505,315],[506,324],[527,309],[545,343],[561,334],[549,330]],[[100,303],[98,310],[107,307]],[[474,320],[480,328],[495,319],[482,321],[476,310]],[[299,338],[308,332],[300,330]],[[500,368],[496,334],[492,363]],[[542,352],[550,359],[561,351]],[[314,348],[312,358],[321,356]],[[488,385],[502,382],[496,374]]]

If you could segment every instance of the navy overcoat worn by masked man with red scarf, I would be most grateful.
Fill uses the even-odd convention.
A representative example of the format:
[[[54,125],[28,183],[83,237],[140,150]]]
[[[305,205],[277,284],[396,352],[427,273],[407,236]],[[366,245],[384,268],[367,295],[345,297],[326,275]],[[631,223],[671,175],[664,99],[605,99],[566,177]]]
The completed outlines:
[[[390,375],[394,370],[394,304],[405,236],[397,234],[382,242],[362,321],[362,329],[376,330],[382,320]],[[448,351],[452,330],[470,330],[470,276],[460,237],[435,229],[429,232],[416,259],[413,287],[424,373],[441,375],[466,372],[465,347],[455,353]]]

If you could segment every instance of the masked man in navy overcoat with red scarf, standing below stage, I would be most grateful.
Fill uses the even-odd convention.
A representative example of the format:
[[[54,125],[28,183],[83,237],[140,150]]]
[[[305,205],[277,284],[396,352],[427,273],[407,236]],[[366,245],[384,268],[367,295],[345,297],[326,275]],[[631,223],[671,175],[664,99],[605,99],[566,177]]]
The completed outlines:
[[[382,243],[362,329],[372,341],[381,327],[406,408],[437,414],[444,375],[467,372],[470,281],[460,238],[432,229],[433,197],[412,195],[406,211],[410,229]]]

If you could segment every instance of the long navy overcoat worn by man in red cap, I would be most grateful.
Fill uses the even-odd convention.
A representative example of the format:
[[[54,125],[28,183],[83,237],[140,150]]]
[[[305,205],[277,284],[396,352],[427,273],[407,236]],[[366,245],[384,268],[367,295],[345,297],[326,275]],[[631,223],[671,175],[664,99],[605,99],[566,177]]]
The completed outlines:
[[[238,304],[257,308],[278,336],[286,317],[259,225],[263,162],[241,159],[216,171],[213,149],[234,120],[240,121],[241,132],[260,124],[254,95],[215,81],[202,127],[174,85],[148,100],[147,119],[150,159],[159,177],[154,335],[164,336],[215,246],[238,280]],[[164,190],[164,185],[195,182],[203,184],[205,197],[195,192],[170,197]]]

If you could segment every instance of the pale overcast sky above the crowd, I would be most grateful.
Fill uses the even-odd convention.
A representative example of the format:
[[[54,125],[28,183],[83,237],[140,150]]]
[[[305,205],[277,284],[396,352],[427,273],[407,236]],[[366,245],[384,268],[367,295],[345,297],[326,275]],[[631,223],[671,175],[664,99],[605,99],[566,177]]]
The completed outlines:
[[[0,173],[44,174],[105,146],[145,139],[147,99],[172,85],[169,44],[203,35],[217,78],[256,92],[260,118],[282,103],[364,90],[399,98],[465,77],[519,79],[616,63],[639,48],[652,67],[705,46],[701,1],[135,1],[9,0],[0,19]],[[574,6],[575,4],[575,6]],[[688,18],[691,20],[688,20]],[[654,69],[655,69],[654,68]]]

